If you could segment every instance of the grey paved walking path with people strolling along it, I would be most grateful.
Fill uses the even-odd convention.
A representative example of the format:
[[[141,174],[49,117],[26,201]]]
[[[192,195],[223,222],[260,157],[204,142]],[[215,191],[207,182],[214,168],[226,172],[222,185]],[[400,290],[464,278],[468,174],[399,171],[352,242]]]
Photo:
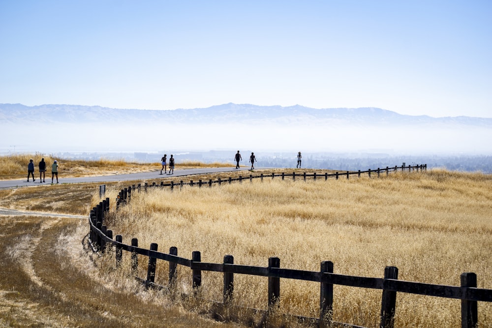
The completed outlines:
[[[265,169],[265,168],[257,168],[257,169]],[[239,171],[246,171],[248,168],[242,167]],[[81,183],[81,182],[113,182],[113,181],[133,181],[133,180],[148,180],[148,179],[162,179],[162,178],[172,178],[172,177],[183,177],[183,176],[192,176],[197,174],[208,174],[208,173],[218,173],[218,172],[233,172],[238,171],[234,167],[217,167],[217,168],[200,168],[200,169],[178,169],[174,170],[174,174],[162,174],[160,175],[160,169],[153,172],[141,172],[141,173],[128,173],[128,174],[118,174],[111,176],[97,176],[97,177],[81,177],[81,178],[63,178],[62,174],[58,174],[58,181],[60,183]],[[36,178],[36,181],[27,182],[27,179],[21,180],[3,180],[0,181],[0,189],[6,188],[17,188],[17,187],[26,187],[33,185],[43,185],[43,184],[51,184],[51,175],[46,174],[46,179],[44,183],[39,182],[39,177]],[[56,178],[55,178],[56,183]]]

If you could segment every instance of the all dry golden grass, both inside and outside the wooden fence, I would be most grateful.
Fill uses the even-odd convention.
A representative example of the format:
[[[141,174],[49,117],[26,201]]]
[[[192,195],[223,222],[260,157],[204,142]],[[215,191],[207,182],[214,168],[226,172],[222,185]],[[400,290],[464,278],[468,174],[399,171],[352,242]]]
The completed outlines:
[[[12,179],[24,177],[31,157]],[[75,165],[75,171],[94,172],[91,165]],[[132,165],[133,172],[148,166]],[[111,170],[101,172],[122,172],[122,166],[106,164]],[[106,183],[112,206],[122,187],[140,182]],[[106,224],[126,243],[131,238],[140,245],[156,242],[160,251],[177,246],[187,258],[199,250],[204,262],[220,263],[231,254],[236,264],[267,266],[268,258],[277,256],[283,268],[319,270],[320,261],[329,260],[336,273],[370,277],[382,277],[384,267],[392,265],[399,268],[399,279],[454,286],[462,272],[471,271],[477,273],[479,288],[492,289],[491,182],[489,175],[444,170],[380,179],[255,179],[252,184],[150,191],[133,197],[118,213],[112,208]],[[145,291],[129,273],[127,256],[123,268],[115,269],[113,254],[92,255],[87,215],[99,202],[98,185],[0,190],[0,208],[39,211],[0,216],[0,326],[242,327],[222,323],[220,317],[212,320],[206,302]],[[53,212],[84,218],[42,215]],[[166,270],[159,261],[156,282],[165,281]],[[190,273],[178,271],[179,291],[187,293]],[[146,276],[143,259],[139,276]],[[202,296],[220,300],[221,284],[220,274],[203,272]],[[265,278],[236,274],[234,302],[266,308],[266,286]],[[317,316],[318,284],[282,279],[280,297],[281,312]],[[335,286],[334,319],[378,327],[380,298],[380,291]],[[479,303],[479,327],[492,327],[491,313],[491,304]],[[295,326],[282,320],[273,326]],[[460,301],[400,293],[396,327],[460,327]]]

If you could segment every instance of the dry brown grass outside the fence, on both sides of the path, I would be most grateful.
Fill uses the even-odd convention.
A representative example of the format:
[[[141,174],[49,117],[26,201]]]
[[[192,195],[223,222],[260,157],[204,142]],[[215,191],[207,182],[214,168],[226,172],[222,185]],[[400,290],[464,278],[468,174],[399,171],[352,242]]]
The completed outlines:
[[[26,158],[29,162],[35,157]],[[8,163],[18,158],[0,157],[0,161]],[[98,164],[73,165],[75,171],[94,172]],[[104,167],[119,172],[127,168],[126,163],[121,168],[119,165],[111,162]],[[137,170],[133,172],[147,169],[147,164],[132,165]],[[24,177],[25,170],[21,171],[11,178]],[[126,183],[131,181],[123,185]],[[0,327],[237,327],[155,298],[131,281],[114,280],[98,267],[99,260],[88,250],[85,239],[91,200],[98,185],[0,190],[0,208],[39,211],[39,215],[0,215]],[[122,186],[116,182],[107,185]],[[51,213],[81,217],[47,216]],[[121,285],[131,287],[125,291]]]

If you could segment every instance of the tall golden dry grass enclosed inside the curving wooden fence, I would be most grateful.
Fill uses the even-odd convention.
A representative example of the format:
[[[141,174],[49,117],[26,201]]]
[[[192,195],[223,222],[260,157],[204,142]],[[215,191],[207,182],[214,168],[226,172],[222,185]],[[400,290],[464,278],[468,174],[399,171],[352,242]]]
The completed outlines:
[[[491,182],[490,175],[432,170],[380,179],[155,189],[133,194],[106,224],[126,243],[156,242],[164,252],[177,246],[186,258],[199,250],[203,262],[221,263],[231,254],[236,264],[266,267],[276,256],[283,268],[318,271],[329,260],[336,273],[368,277],[396,266],[401,280],[454,286],[471,271],[479,288],[492,289]],[[167,269],[158,262],[156,280],[165,284]],[[146,261],[139,275],[145,277]],[[179,268],[180,292],[190,292],[190,276]],[[202,284],[205,298],[221,300],[221,274],[204,272]],[[381,291],[334,290],[335,321],[378,326]],[[237,274],[235,295],[237,305],[266,308],[267,279]],[[282,312],[318,316],[319,284],[282,279],[280,298]],[[460,313],[459,300],[400,293],[395,326],[459,327]],[[492,326],[491,313],[492,304],[479,304],[481,327]]]

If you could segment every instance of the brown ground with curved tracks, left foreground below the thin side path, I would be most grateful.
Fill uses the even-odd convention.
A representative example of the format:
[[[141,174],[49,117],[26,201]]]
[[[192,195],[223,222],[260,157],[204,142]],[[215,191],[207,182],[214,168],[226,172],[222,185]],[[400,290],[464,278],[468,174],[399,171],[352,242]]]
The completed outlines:
[[[114,288],[83,242],[86,221],[74,217],[0,216],[1,327],[228,326]]]

